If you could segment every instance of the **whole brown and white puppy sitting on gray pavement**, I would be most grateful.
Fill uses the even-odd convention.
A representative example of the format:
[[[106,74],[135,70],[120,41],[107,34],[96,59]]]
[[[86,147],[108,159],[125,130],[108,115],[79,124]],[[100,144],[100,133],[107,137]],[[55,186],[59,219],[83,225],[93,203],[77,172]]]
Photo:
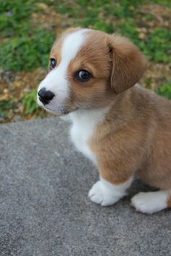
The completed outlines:
[[[54,43],[38,104],[70,114],[75,146],[99,170],[88,197],[113,205],[139,176],[159,191],[138,193],[136,210],[171,207],[171,102],[136,85],[146,67],[128,39],[96,30],[67,30]]]

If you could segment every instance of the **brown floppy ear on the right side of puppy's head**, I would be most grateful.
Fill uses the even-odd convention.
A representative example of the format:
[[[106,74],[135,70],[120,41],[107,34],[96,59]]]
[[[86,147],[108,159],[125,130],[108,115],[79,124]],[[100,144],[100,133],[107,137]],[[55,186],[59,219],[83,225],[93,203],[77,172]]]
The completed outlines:
[[[116,94],[140,80],[146,68],[146,58],[127,38],[109,35],[107,41],[112,58],[111,86]]]

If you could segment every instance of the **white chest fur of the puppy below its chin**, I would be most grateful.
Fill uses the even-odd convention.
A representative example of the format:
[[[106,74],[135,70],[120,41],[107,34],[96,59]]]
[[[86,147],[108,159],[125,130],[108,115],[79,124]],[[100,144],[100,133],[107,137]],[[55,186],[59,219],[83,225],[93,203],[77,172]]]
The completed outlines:
[[[91,138],[96,125],[104,119],[108,109],[77,111],[70,114],[72,127],[70,136],[76,148],[96,164],[96,155],[91,152],[88,146],[88,139]]]

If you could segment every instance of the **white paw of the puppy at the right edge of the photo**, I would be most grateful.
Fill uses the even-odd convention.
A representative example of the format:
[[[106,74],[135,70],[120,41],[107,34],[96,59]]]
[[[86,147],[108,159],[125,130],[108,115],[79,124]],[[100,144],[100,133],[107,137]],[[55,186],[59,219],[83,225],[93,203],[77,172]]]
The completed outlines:
[[[170,191],[140,192],[131,199],[131,205],[143,213],[152,214],[167,208]]]

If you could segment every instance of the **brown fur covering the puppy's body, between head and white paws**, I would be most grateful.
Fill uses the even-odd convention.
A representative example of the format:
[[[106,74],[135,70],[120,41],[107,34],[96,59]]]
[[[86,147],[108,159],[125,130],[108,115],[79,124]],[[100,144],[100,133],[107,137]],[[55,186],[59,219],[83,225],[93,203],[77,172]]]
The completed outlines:
[[[114,99],[89,140],[101,176],[111,183],[137,173],[159,189],[171,188],[171,102],[143,88]]]

